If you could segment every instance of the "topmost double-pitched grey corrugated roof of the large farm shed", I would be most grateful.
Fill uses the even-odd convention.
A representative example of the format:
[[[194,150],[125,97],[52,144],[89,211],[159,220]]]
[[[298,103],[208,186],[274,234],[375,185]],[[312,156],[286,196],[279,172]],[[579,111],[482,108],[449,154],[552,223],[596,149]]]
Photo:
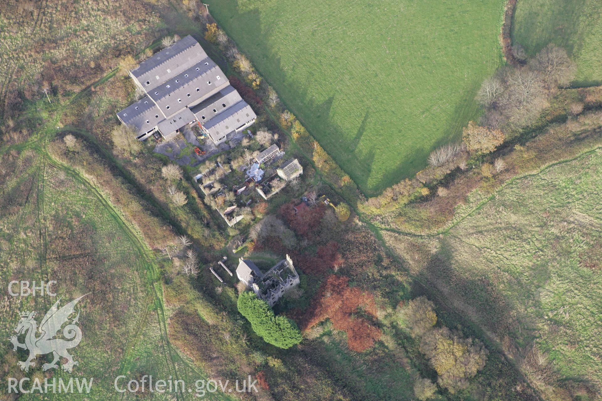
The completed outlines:
[[[140,63],[131,74],[144,89],[150,91],[206,57],[207,54],[200,44],[188,35]]]

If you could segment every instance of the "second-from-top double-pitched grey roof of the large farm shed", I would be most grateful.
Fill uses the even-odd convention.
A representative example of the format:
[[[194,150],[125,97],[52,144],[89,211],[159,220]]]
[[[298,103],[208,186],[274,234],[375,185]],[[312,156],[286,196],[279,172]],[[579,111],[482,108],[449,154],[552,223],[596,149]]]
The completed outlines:
[[[203,97],[211,96],[228,85],[228,79],[220,67],[210,58],[205,58],[153,90],[148,91],[148,96],[155,100],[163,114],[169,117],[182,107],[190,105],[190,103]]]

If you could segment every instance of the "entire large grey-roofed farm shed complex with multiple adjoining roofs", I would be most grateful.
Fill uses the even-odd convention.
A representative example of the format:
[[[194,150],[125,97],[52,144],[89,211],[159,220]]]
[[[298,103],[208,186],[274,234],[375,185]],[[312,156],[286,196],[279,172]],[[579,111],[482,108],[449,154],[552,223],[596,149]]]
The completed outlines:
[[[255,122],[253,109],[188,35],[140,63],[129,76],[146,96],[117,113],[143,141],[154,132],[173,138],[197,123],[217,145]]]

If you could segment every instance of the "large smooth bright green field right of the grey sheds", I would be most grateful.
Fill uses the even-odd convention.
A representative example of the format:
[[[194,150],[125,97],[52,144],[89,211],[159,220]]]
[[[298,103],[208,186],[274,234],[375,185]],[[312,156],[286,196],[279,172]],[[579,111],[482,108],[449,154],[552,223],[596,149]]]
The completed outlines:
[[[374,195],[477,117],[500,65],[502,0],[209,1],[324,150]]]

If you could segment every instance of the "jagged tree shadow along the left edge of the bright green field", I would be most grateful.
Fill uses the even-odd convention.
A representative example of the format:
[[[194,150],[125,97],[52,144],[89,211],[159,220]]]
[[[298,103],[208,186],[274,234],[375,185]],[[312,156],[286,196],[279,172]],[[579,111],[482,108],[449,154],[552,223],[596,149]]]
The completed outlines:
[[[369,132],[371,127],[370,111],[358,110],[355,113],[352,123],[357,124],[358,131],[355,136],[349,135],[349,130],[342,129],[333,121],[332,106],[337,93],[330,93],[326,100],[317,102],[310,96],[308,85],[291,79],[291,71],[284,70],[281,57],[270,44],[272,43],[270,37],[275,35],[273,25],[262,22],[262,13],[258,8],[241,10],[241,3],[238,0],[219,2],[209,0],[208,2],[209,10],[214,5],[212,15],[219,25],[225,28],[229,36],[240,45],[241,50],[244,50],[265,81],[278,91],[282,104],[299,118],[303,126],[352,177],[365,195],[377,195],[387,186],[412,176],[415,171],[423,167],[425,160],[423,156],[426,150],[418,149],[409,160],[405,158],[403,161],[391,161],[382,176],[370,177],[375,158],[379,155],[376,147],[364,143],[364,133]],[[228,26],[236,25],[244,26],[244,29],[228,29]],[[361,143],[363,145],[360,145]]]

